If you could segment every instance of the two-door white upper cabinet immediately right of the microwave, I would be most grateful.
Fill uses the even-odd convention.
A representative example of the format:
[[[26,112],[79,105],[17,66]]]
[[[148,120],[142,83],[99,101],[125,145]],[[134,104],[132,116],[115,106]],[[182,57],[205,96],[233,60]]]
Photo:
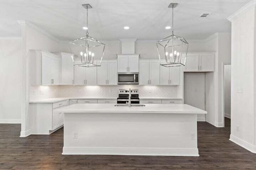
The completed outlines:
[[[159,85],[160,64],[158,60],[140,60],[139,84]]]

